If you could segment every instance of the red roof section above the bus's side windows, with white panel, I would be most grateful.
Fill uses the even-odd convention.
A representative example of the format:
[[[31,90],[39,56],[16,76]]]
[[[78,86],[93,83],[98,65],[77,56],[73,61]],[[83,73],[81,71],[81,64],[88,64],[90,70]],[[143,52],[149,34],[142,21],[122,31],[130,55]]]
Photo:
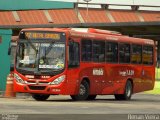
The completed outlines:
[[[154,45],[154,41],[151,39],[129,37],[122,35],[116,31],[100,30],[93,28],[88,28],[88,29],[73,28],[71,29],[70,34],[73,37],[90,38],[96,40],[105,39],[109,41]]]

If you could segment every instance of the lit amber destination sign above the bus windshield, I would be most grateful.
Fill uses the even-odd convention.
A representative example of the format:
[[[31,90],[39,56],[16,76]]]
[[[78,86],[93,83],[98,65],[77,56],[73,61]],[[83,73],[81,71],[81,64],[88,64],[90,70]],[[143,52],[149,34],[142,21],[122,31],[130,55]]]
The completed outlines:
[[[25,32],[25,39],[54,39],[60,40],[60,33]]]

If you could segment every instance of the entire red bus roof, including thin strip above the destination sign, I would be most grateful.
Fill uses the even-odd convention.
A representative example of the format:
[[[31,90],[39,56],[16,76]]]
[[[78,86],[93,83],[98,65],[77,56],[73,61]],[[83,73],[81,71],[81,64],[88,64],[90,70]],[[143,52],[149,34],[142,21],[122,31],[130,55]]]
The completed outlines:
[[[71,37],[154,45],[154,41],[151,39],[134,38],[122,35],[121,33],[116,31],[94,28],[27,28],[22,29],[22,31],[63,31],[69,32]]]

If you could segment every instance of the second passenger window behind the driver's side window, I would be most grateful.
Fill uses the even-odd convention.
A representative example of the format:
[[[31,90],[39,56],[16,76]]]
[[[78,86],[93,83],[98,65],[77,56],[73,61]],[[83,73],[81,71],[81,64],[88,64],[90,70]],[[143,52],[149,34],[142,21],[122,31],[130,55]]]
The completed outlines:
[[[105,62],[105,42],[93,41],[93,61]]]

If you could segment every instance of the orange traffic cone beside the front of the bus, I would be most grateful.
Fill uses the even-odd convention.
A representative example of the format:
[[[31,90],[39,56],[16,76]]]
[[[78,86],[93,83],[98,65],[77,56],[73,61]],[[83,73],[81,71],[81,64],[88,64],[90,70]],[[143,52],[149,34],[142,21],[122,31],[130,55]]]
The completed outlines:
[[[13,73],[10,73],[7,76],[6,91],[4,97],[7,98],[16,97],[16,93],[13,91],[13,78],[14,78]]]

